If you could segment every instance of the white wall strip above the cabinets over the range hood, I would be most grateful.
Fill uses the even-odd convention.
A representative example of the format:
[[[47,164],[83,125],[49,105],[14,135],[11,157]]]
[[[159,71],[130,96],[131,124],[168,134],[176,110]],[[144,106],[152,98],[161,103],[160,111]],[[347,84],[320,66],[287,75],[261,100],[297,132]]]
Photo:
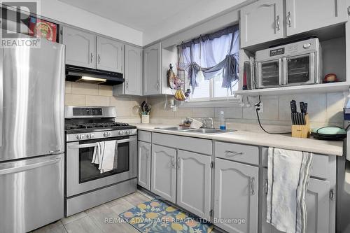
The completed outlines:
[[[97,2],[98,4],[98,2]],[[42,16],[122,41],[143,45],[143,33],[58,0],[41,0]]]

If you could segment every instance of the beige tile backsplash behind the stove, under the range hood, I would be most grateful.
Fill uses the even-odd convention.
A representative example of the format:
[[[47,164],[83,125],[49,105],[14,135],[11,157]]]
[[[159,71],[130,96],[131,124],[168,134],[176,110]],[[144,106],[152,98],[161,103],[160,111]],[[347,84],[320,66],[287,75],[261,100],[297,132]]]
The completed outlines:
[[[115,106],[117,121],[139,123],[137,108],[142,97],[113,97],[112,87],[88,83],[66,82],[65,105],[72,106]]]

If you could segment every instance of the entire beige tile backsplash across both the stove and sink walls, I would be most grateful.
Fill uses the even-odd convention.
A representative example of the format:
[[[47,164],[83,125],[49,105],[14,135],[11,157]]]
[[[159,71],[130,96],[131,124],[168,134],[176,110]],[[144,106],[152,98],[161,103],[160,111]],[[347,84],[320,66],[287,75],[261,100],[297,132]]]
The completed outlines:
[[[335,92],[327,94],[295,94],[281,96],[262,96],[263,113],[260,119],[266,127],[285,126],[289,127],[290,122],[290,100],[295,99],[308,103],[311,127],[324,125],[342,126],[342,109],[348,92]],[[172,98],[168,97],[167,99]],[[66,82],[66,105],[73,106],[116,106],[117,120],[130,123],[139,123],[140,117],[137,113],[137,106],[146,97],[113,97],[112,87],[106,85],[94,85],[87,83]],[[148,97],[152,105],[151,122],[160,124],[177,125],[186,117],[192,118],[214,118],[218,123],[219,113],[225,112],[228,125],[244,125],[244,129],[258,128],[255,108],[253,105],[258,102],[257,98],[250,97],[251,107],[241,107],[239,104],[230,107],[215,108],[178,108],[176,112],[165,108],[165,96]],[[299,106],[298,106],[299,108]]]

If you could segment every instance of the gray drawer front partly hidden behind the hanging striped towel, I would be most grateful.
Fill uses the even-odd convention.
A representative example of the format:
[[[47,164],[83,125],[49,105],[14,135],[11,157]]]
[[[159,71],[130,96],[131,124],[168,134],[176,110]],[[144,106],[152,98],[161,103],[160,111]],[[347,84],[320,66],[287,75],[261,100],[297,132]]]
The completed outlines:
[[[262,148],[262,166],[267,167],[267,160],[269,155],[269,148]],[[311,176],[328,179],[328,164],[329,156],[328,155],[314,155],[314,161],[312,162],[311,167]]]

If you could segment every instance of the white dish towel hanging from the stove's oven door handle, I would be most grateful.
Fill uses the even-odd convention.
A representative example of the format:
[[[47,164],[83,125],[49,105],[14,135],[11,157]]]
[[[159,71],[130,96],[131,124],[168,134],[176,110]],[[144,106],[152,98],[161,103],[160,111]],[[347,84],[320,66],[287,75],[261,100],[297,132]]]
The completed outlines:
[[[114,157],[116,157],[116,141],[97,142],[92,155],[92,163],[99,164],[99,171],[104,173],[114,168]]]

